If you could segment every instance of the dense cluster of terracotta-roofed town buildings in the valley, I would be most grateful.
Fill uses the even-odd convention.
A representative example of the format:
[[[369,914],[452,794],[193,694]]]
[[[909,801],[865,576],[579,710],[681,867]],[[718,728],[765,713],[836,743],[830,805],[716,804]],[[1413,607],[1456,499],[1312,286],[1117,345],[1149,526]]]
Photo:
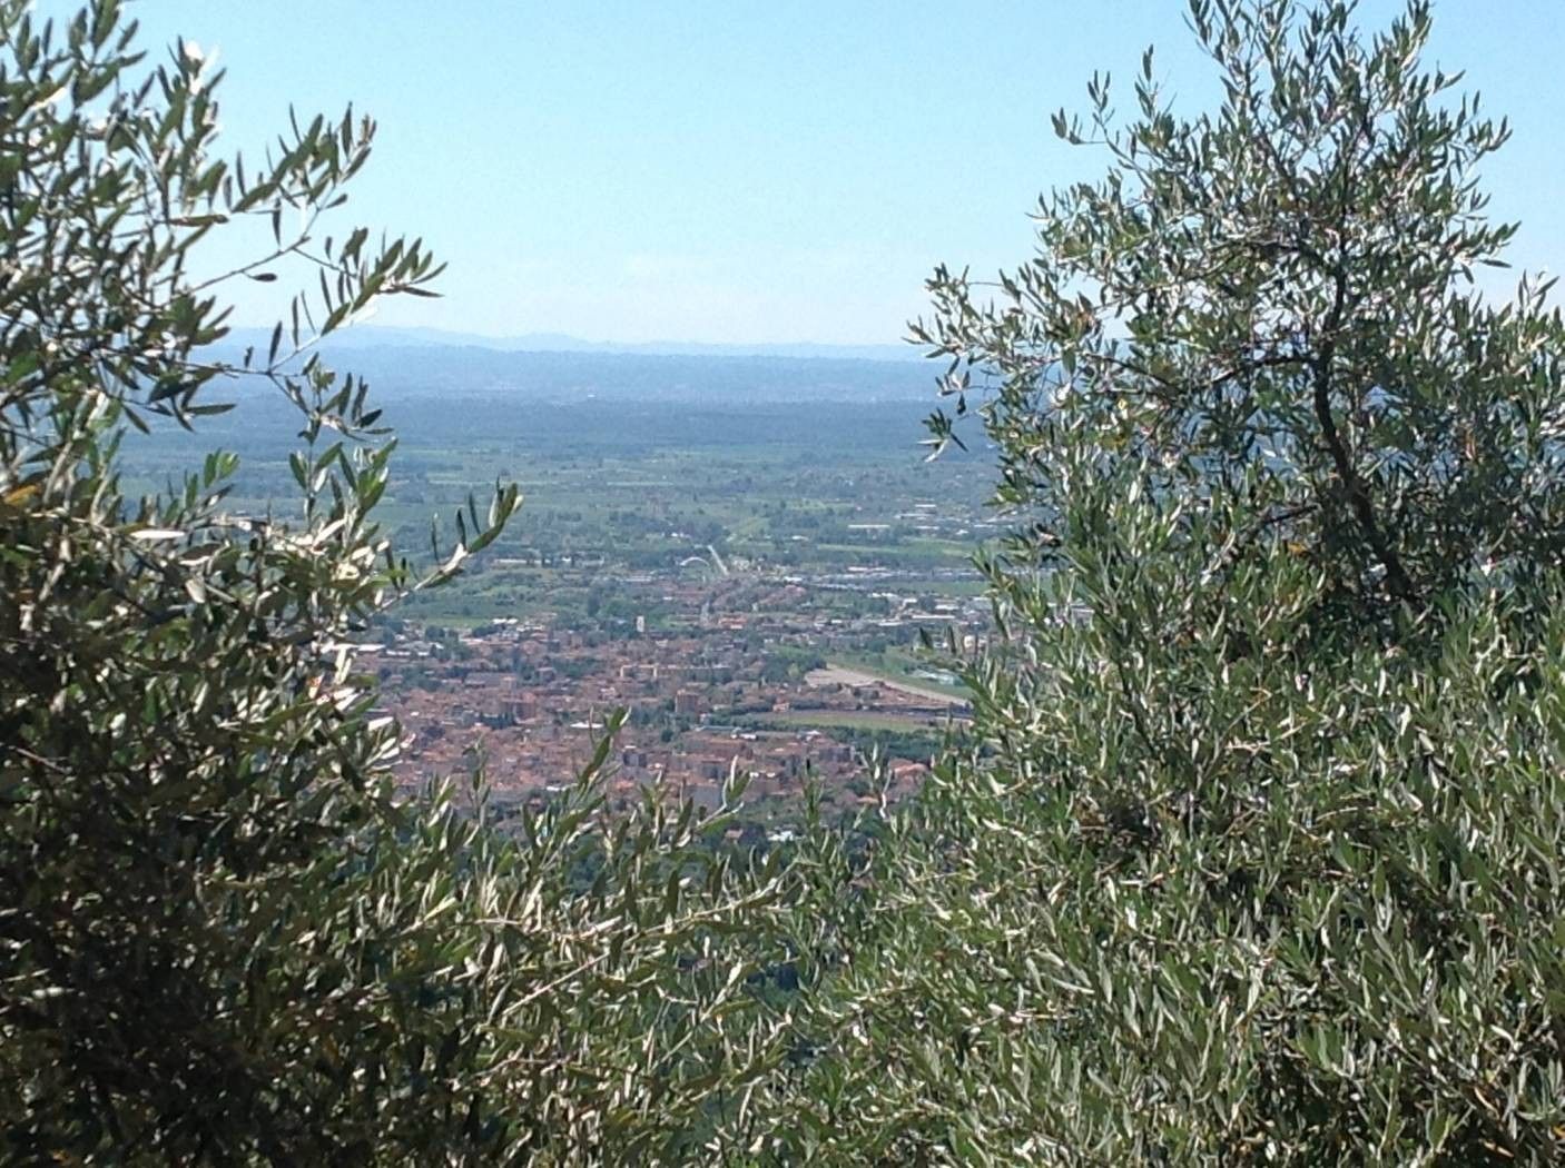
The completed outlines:
[[[806,646],[842,636],[822,619]],[[757,630],[770,625],[726,611],[684,633],[595,638],[502,619],[443,641],[393,636],[362,654],[380,675],[383,713],[402,727],[399,782],[482,765],[498,801],[573,782],[623,710],[604,779],[610,805],[656,785],[715,807],[736,776],[748,780],[748,805],[793,804],[811,777],[828,801],[870,802],[884,791],[844,727],[917,730],[961,713],[959,700],[895,680],[768,666],[770,638],[757,644]],[[889,793],[923,774],[923,758],[887,760]]]

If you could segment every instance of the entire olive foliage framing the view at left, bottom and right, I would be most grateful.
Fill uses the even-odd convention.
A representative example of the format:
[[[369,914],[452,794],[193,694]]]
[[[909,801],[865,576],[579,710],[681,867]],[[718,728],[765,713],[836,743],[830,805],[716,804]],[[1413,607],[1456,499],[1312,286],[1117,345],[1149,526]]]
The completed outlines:
[[[995,283],[936,272],[931,442],[977,421],[1014,519],[950,649],[973,726],[759,855],[726,810],[609,821],[607,746],[505,832],[482,783],[393,797],[352,640],[520,500],[423,568],[376,525],[391,439],[311,342],[438,267],[326,235],[372,125],[247,169],[191,47],[0,0],[3,1154],[1557,1162],[1565,325],[1473,280],[1507,130],[1429,6],[1355,19],[1191,0],[1218,106],[1150,52],[1128,120],[1094,78],[1055,127],[1103,177]],[[211,356],[224,289],[297,271],[268,352]],[[124,496],[138,428],[250,382],[296,508],[233,514],[224,453]]]

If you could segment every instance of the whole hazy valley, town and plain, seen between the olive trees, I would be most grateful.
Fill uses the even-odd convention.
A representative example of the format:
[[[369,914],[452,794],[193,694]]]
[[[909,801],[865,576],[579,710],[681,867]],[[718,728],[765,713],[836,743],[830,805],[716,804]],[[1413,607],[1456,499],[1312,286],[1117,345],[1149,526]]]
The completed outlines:
[[[484,474],[526,494],[460,577],[355,636],[379,713],[401,726],[398,782],[482,769],[496,805],[545,799],[623,710],[610,808],[643,790],[711,807],[742,776],[747,822],[787,830],[812,779],[842,812],[914,790],[967,713],[942,650],[992,627],[972,557],[1013,524],[988,507],[988,464],[926,460],[922,403],[905,397],[776,400],[743,383],[723,400],[646,397],[635,378],[662,364],[613,371],[601,396],[540,388],[526,408],[515,391],[391,382],[405,435],[380,507],[393,547],[418,549]],[[286,447],[213,428],[243,455],[230,503],[264,513],[293,482]],[[155,433],[141,482],[180,457],[177,435]]]

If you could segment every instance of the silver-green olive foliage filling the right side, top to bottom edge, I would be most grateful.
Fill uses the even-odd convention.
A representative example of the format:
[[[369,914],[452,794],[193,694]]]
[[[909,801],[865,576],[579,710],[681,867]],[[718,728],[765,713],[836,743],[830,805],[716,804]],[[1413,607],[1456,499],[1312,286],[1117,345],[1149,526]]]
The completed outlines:
[[[800,1159],[1565,1155],[1565,330],[1468,281],[1506,131],[1426,6],[1352,19],[1194,0],[1221,108],[1094,81],[1106,178],[931,283],[934,439],[980,414],[1022,530],[801,1019]]]

